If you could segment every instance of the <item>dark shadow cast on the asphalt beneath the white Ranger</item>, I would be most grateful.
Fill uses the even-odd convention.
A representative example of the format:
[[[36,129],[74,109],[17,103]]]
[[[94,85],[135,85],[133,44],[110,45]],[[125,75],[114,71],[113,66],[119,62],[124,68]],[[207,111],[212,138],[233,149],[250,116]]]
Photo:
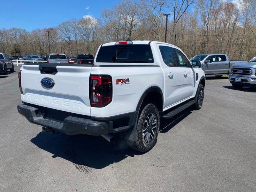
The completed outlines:
[[[166,133],[192,112],[188,109],[172,119],[163,120],[160,132]],[[120,162],[128,156],[142,155],[143,153],[129,148],[126,140],[116,138],[111,144],[100,136],[51,134],[40,132],[30,140],[39,148],[50,152],[52,158],[63,158],[74,164],[80,171],[86,174],[94,169],[102,169],[111,164]]]

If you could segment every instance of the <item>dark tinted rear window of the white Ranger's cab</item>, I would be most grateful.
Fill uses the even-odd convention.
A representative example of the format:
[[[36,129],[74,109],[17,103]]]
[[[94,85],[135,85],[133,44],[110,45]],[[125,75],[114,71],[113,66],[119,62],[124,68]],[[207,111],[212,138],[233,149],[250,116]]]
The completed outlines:
[[[102,46],[96,62],[105,63],[153,63],[150,45]]]

